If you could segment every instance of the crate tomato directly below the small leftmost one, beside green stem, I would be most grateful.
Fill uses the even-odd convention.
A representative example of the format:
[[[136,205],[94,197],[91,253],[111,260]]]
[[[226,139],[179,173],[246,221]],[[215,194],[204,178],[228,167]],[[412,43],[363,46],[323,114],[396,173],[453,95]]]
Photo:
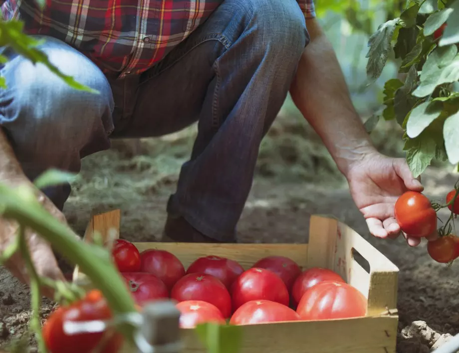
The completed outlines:
[[[126,279],[135,302],[140,306],[156,299],[169,298],[166,285],[151,273],[126,272],[122,275]]]

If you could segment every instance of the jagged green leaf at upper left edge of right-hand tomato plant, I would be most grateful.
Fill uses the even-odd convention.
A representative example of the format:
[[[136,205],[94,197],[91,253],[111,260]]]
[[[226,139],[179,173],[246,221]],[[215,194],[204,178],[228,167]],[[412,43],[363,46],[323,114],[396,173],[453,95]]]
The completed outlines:
[[[365,57],[368,58],[367,76],[371,82],[381,76],[391,48],[392,35],[399,18],[392,19],[379,26],[378,30],[368,40],[370,49]]]

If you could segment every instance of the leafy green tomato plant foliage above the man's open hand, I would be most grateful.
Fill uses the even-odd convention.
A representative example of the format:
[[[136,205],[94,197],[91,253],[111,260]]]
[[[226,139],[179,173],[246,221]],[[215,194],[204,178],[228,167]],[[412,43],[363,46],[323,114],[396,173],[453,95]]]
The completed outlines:
[[[404,78],[385,83],[384,110],[367,125],[375,126],[380,118],[397,121],[415,177],[434,159],[459,162],[458,43],[459,0],[409,1],[368,42],[369,82],[380,77],[392,53]]]

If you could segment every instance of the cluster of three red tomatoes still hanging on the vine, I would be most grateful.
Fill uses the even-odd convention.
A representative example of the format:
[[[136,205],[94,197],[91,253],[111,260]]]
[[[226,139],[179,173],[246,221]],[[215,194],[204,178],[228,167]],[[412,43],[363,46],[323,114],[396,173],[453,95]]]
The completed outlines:
[[[449,204],[456,194],[450,191],[446,196]],[[448,205],[453,214],[459,214],[459,197]],[[411,237],[425,238],[437,230],[437,212],[431,201],[421,192],[407,191],[395,203],[395,218],[402,231]],[[459,257],[459,237],[443,234],[437,240],[427,243],[429,255],[437,262],[449,263]]]

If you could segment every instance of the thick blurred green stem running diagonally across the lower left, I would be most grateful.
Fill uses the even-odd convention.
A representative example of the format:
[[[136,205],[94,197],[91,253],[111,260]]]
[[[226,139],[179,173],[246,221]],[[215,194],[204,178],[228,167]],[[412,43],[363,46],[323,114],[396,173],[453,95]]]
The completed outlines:
[[[109,254],[98,246],[77,240],[67,225],[55,219],[38,203],[30,189],[10,189],[0,183],[0,213],[37,231],[68,261],[78,265],[102,292],[114,314],[136,311],[126,282]],[[129,341],[134,330],[129,324],[120,328]]]

